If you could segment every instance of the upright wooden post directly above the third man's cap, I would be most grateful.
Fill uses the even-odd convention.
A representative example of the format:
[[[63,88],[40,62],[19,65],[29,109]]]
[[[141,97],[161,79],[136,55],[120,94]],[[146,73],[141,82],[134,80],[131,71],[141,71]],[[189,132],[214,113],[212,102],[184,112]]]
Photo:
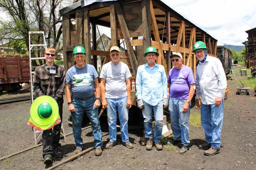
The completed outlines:
[[[117,46],[117,28],[116,28],[116,10],[115,5],[110,5],[110,28],[111,28],[111,46]]]

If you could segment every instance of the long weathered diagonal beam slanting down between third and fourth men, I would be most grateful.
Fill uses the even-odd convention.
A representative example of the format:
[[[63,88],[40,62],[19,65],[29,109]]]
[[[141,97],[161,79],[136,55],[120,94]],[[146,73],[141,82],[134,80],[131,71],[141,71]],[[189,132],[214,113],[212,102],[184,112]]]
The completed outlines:
[[[134,75],[136,76],[137,69],[138,69],[138,63],[137,63],[137,59],[136,59],[136,56],[134,54],[133,48],[131,46],[131,42],[130,42],[131,37],[130,37],[129,31],[128,31],[127,25],[125,23],[123,12],[122,12],[122,9],[120,7],[120,4],[115,4],[115,8],[116,8],[118,21],[120,23],[121,31],[122,31],[122,34],[124,36],[124,41],[125,41],[125,45],[127,47],[127,52],[128,52],[128,55],[129,55],[129,59],[130,59],[131,65],[132,65],[132,70],[134,72]]]

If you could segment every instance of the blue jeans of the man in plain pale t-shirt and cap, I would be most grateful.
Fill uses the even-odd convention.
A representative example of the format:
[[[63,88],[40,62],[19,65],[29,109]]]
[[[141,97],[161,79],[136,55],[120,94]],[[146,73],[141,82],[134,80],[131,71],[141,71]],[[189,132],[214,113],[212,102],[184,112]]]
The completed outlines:
[[[129,141],[128,134],[128,108],[126,107],[127,96],[117,99],[106,99],[108,102],[108,124],[109,141],[116,142],[116,120],[117,112],[121,126],[121,137],[123,142]]]

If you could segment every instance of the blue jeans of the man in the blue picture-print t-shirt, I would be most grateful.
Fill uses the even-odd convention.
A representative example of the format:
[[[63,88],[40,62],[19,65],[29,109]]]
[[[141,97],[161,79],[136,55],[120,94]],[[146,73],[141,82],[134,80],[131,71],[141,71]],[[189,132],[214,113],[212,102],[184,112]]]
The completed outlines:
[[[75,138],[75,147],[82,148],[83,147],[83,139],[81,138],[82,133],[82,120],[83,114],[86,112],[90,122],[91,127],[93,129],[93,139],[94,139],[94,147],[99,148],[102,147],[102,134],[101,134],[101,126],[98,118],[98,108],[93,107],[95,102],[95,96],[87,100],[80,100],[73,98],[72,104],[75,107],[75,112],[71,112],[72,115],[72,127]]]

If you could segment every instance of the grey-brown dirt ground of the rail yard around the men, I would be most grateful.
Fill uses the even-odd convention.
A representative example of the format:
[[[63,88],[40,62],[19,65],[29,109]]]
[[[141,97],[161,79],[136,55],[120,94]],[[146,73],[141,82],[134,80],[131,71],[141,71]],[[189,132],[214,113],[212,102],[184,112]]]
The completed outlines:
[[[233,76],[234,77],[234,76]],[[120,132],[118,132],[118,144],[112,149],[103,149],[100,157],[94,156],[94,151],[86,153],[73,161],[65,163],[56,169],[256,169],[256,118],[252,121],[242,121],[239,118],[245,111],[245,105],[251,115],[256,116],[256,97],[251,90],[250,95],[236,95],[238,80],[245,79],[236,74],[237,80],[228,80],[231,92],[225,101],[225,114],[222,130],[221,153],[212,157],[203,155],[203,150],[198,145],[205,142],[202,127],[190,126],[191,145],[187,153],[178,153],[178,147],[168,150],[165,145],[162,151],[155,148],[146,151],[145,146],[140,145],[141,130],[130,130],[130,141],[134,149],[127,149],[121,145]],[[17,94],[20,95],[20,94]],[[22,94],[24,95],[24,94]],[[15,96],[12,95],[12,96]],[[18,102],[0,105],[0,157],[14,153],[19,150],[34,146],[34,133],[31,127],[26,126],[29,118],[30,102]],[[191,114],[200,112],[192,108]],[[63,125],[65,133],[71,133],[72,128],[68,126],[69,111],[67,101],[63,107]],[[103,140],[108,139],[108,126],[104,118],[101,119]],[[82,131],[84,149],[93,146],[93,135],[91,129]],[[74,137],[69,135],[67,141],[61,139],[61,151],[64,158],[54,160],[53,164],[74,155]],[[172,142],[172,138],[167,138]],[[167,141],[165,141],[166,144]],[[42,158],[42,146],[0,161],[0,169],[45,169]]]

